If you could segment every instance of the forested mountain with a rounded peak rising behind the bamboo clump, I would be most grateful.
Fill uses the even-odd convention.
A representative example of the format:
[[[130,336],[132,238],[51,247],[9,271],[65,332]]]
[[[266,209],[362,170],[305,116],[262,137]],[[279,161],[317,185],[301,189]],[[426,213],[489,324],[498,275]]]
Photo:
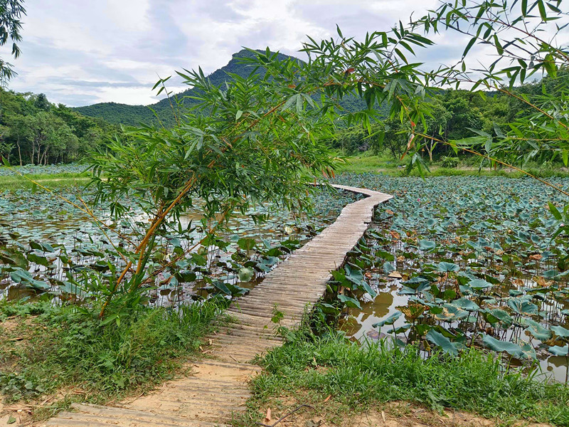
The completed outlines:
[[[222,84],[225,80],[228,80],[228,73],[237,74],[241,77],[249,75],[251,72],[250,65],[240,63],[238,58],[250,56],[252,56],[252,53],[245,49],[238,53],[234,53],[233,58],[231,58],[227,65],[208,75],[211,83],[214,85]],[[280,59],[285,58],[289,58],[289,56],[280,54]],[[193,95],[193,89],[188,89],[179,93],[178,97],[182,98],[189,95]],[[184,102],[186,104],[191,104],[193,101],[186,98]],[[154,112],[156,112],[156,115],[158,115],[164,125],[169,125],[174,122],[174,115],[168,99],[161,100],[152,105],[127,105],[119,104],[117,102],[101,102],[99,104],[87,105],[85,107],[77,107],[75,110],[83,115],[100,117],[107,122],[114,124],[122,123],[124,125],[138,125],[141,122],[156,122]],[[152,110],[154,110],[154,112]]]

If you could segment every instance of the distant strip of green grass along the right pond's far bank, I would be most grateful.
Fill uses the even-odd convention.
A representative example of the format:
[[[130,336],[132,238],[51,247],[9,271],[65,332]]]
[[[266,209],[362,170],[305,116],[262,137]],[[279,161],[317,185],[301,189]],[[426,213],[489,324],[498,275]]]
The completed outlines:
[[[394,159],[390,154],[372,155],[370,153],[360,154],[346,158],[346,164],[339,167],[339,172],[351,172],[354,174],[364,173],[381,173],[390,176],[420,176],[417,169],[413,169],[409,174],[405,171],[408,159]],[[430,172],[426,172],[425,176],[506,176],[509,178],[521,178],[526,176],[521,172],[511,169],[489,169],[483,168],[479,171],[476,164],[465,162],[456,168],[442,167],[437,162],[429,165]],[[526,167],[526,172],[541,178],[569,177],[569,171],[551,167],[551,165],[541,166],[538,164],[530,164]]]

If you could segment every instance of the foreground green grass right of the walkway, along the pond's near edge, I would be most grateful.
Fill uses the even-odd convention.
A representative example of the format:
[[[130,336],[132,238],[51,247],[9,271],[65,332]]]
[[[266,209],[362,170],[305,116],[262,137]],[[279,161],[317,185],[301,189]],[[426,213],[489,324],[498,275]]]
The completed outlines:
[[[504,372],[501,362],[475,349],[459,358],[437,354],[425,360],[415,349],[361,347],[330,332],[277,347],[260,363],[266,372],[254,380],[251,408],[275,408],[278,396],[296,395],[317,411],[335,407],[337,416],[338,410],[346,415],[388,401],[410,401],[505,423],[524,419],[569,426],[567,386]],[[322,404],[330,395],[331,401]]]

